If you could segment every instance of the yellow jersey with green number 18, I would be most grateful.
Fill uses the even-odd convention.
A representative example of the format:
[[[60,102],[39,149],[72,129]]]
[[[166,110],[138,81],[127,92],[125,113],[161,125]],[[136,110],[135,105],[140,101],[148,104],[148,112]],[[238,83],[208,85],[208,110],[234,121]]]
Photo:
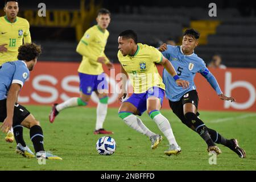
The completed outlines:
[[[11,23],[6,16],[0,17],[0,45],[7,44],[7,52],[0,52],[0,65],[7,61],[18,60],[18,48],[24,43],[31,43],[30,24],[17,16]]]

